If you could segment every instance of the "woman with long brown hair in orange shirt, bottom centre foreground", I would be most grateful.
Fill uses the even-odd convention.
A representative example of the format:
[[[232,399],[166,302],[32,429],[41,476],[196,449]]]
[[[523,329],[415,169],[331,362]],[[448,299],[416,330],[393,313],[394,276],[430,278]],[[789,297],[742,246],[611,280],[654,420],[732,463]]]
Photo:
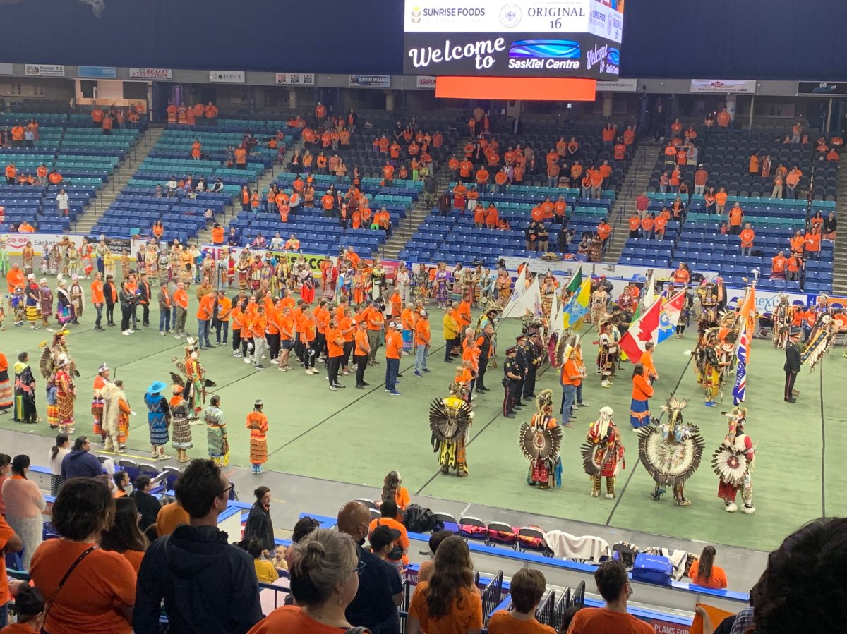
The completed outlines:
[[[454,535],[435,551],[432,578],[419,582],[406,620],[406,634],[482,630],[482,600],[473,585],[473,563],[468,544]]]

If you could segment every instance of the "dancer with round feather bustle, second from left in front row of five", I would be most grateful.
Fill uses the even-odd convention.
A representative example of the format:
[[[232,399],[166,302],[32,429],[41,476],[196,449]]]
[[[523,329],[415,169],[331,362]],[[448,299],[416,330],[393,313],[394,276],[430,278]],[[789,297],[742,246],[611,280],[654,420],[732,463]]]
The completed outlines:
[[[538,411],[519,431],[523,455],[529,459],[527,484],[530,487],[557,488],[562,486],[562,427],[553,418],[553,391],[543,389],[535,397]]]

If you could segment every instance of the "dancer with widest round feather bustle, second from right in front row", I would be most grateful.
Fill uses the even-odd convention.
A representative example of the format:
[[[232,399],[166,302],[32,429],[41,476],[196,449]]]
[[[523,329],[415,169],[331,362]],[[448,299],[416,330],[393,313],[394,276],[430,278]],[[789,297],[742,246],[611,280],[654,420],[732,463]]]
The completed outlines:
[[[700,428],[684,421],[682,411],[687,405],[688,400],[669,397],[662,405],[667,421],[653,418],[650,425],[641,427],[638,441],[639,460],[656,482],[650,497],[661,499],[670,487],[678,506],[691,504],[685,498],[685,481],[700,466],[704,444]]]

